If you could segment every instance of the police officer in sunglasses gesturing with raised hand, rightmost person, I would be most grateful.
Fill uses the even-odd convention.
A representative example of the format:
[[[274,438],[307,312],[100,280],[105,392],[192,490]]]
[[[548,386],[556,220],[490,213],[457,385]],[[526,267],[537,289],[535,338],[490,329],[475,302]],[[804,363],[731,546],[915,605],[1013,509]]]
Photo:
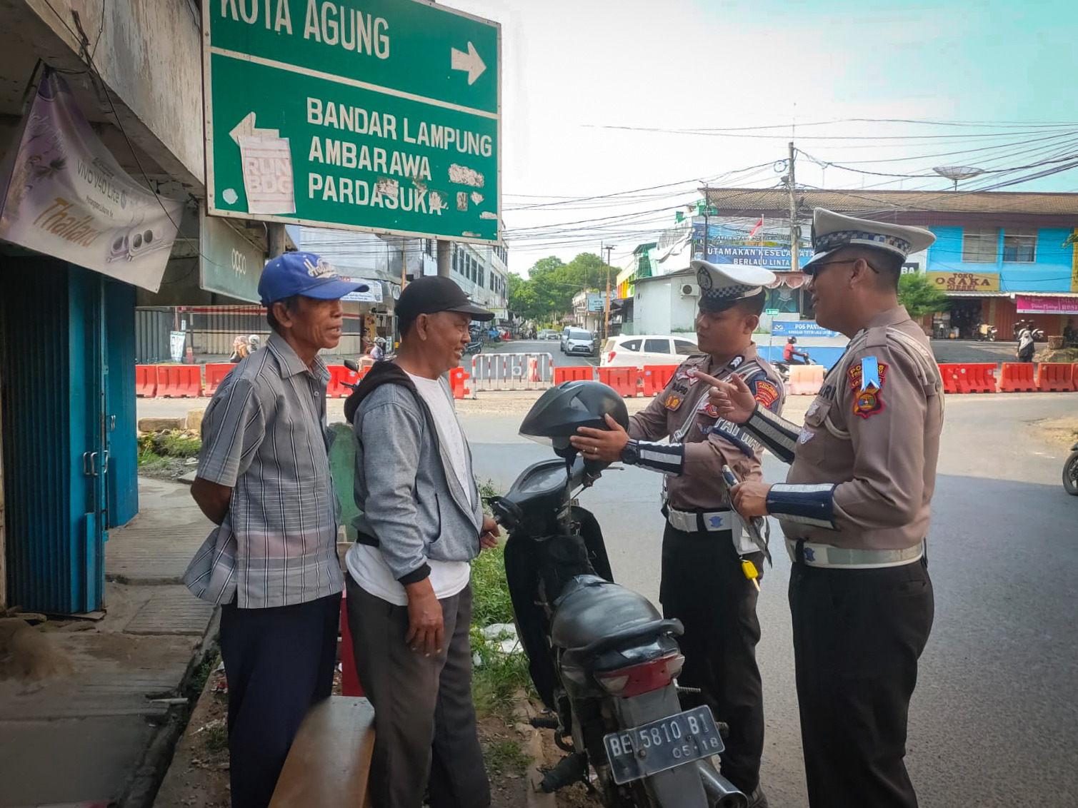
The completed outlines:
[[[711,400],[789,462],[744,483],[743,514],[773,515],[793,560],[790,611],[812,808],[915,808],[907,718],[932,624],[925,558],[943,423],[939,367],[898,304],[902,262],[935,236],[817,208],[805,264],[816,319],[849,337],[803,427],[744,385]]]

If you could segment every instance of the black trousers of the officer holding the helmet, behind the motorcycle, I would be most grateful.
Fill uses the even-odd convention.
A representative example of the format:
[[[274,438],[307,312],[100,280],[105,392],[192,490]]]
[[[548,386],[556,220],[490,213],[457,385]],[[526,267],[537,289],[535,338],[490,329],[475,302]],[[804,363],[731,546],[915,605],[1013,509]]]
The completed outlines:
[[[762,570],[762,554],[747,557]],[[760,781],[763,753],[756,587],[742,571],[729,531],[686,533],[667,525],[662,574],[663,615],[685,625],[678,638],[685,655],[678,684],[702,691],[700,696],[682,697],[682,706],[705,703],[717,721],[730,725],[722,775],[751,794]]]

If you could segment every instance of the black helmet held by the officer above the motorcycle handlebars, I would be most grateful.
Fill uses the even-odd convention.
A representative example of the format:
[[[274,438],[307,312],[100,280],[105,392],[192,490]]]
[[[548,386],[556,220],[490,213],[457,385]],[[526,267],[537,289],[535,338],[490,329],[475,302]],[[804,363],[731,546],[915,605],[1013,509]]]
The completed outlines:
[[[524,437],[548,441],[558,457],[572,457],[577,449],[569,437],[580,427],[609,429],[604,416],[611,416],[626,430],[628,410],[612,388],[600,381],[563,381],[539,396],[521,423]]]

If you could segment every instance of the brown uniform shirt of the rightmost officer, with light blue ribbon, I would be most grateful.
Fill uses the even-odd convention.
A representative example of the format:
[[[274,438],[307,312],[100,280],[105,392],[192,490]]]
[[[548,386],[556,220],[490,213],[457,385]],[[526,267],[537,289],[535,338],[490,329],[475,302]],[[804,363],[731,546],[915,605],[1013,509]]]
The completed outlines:
[[[796,443],[788,485],[773,487],[778,502],[769,497],[786,537],[863,549],[906,549],[923,541],[936,487],[942,393],[928,338],[904,307],[880,315],[854,336],[804,427],[797,432],[790,424]],[[773,430],[766,423],[761,429],[760,414],[746,426],[773,448],[766,434]],[[811,488],[817,490],[805,490]],[[790,507],[782,501],[787,496],[818,497],[820,510]]]

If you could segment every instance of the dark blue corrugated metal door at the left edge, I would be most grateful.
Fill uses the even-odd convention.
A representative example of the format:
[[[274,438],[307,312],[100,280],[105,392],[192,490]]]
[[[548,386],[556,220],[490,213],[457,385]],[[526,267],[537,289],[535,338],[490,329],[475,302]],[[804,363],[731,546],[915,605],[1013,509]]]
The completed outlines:
[[[101,608],[108,473],[103,276],[0,259],[8,600]]]

